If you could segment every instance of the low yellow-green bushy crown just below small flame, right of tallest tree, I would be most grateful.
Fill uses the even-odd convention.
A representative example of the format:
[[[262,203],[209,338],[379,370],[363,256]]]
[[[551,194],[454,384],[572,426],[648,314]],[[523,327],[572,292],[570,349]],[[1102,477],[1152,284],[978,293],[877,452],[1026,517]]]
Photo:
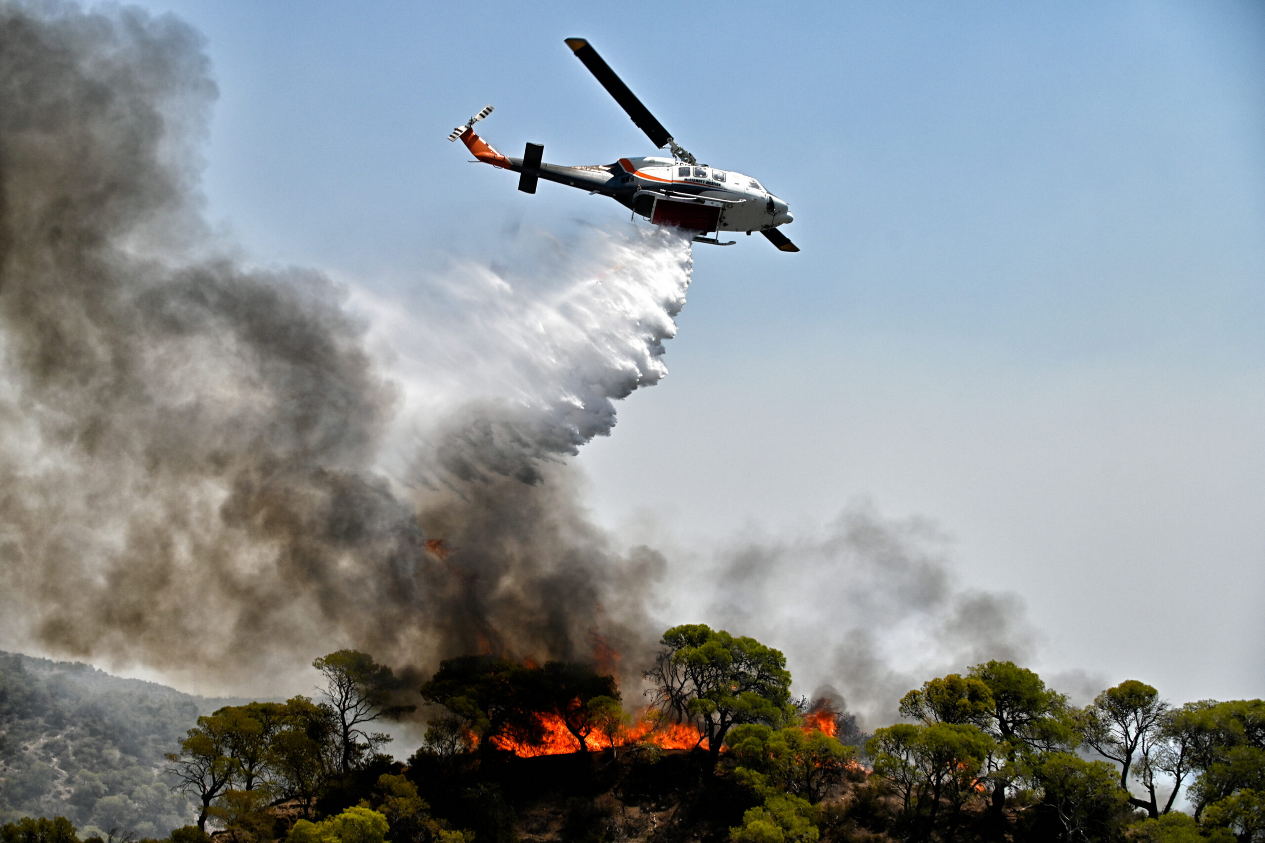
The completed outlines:
[[[853,747],[831,736],[797,725],[773,729],[763,723],[744,723],[730,731],[725,743],[737,765],[735,776],[755,792],[787,792],[811,804],[844,781],[855,756]]]

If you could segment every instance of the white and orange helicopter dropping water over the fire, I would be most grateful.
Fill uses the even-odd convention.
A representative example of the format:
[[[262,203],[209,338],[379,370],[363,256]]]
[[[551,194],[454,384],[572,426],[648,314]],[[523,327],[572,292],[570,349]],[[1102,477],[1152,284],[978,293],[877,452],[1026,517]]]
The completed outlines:
[[[734,240],[722,243],[719,238],[721,231],[759,231],[782,252],[799,250],[777,229],[793,219],[786,202],[764,190],[750,176],[700,164],[668,134],[650,110],[641,105],[592,44],[583,38],[565,40],[576,57],[632,118],[632,123],[655,147],[668,147],[672,158],[620,158],[614,164],[562,167],[543,163],[545,148],[534,143],[528,144],[522,158],[507,158],[474,134],[474,124],[492,114],[491,105],[484,106],[464,125],[453,129],[448,139],[460,138],[474,158],[484,164],[520,173],[519,190],[524,193],[535,193],[536,182],[544,178],[589,193],[610,196],[631,209],[634,215],[646,217],[655,225],[674,225],[693,231],[696,243],[729,246],[734,245]],[[705,236],[708,233],[715,233],[716,236]]]

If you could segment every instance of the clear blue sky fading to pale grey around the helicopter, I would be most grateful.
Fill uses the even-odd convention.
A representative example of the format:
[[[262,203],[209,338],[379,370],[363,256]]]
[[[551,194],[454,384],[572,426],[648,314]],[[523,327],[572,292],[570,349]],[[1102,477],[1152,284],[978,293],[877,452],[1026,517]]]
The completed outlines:
[[[705,542],[870,499],[1020,594],[1040,666],[1265,694],[1265,9],[1252,3],[152,0],[220,86],[207,212],[390,294],[614,202],[466,164],[649,144],[588,38],[786,233],[696,248],[672,375],[589,445],[595,512]]]

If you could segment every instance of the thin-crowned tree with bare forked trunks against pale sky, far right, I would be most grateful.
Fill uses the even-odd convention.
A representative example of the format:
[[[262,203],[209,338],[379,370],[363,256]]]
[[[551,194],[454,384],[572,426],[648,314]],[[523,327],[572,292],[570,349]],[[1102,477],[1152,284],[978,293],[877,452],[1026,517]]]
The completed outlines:
[[[1128,773],[1137,756],[1149,757],[1160,738],[1160,719],[1169,704],[1145,682],[1130,679],[1108,688],[1084,712],[1084,742],[1121,765],[1120,786],[1128,792]],[[1146,762],[1150,768],[1150,762]],[[1130,795],[1131,804],[1159,816],[1155,790],[1150,801]]]

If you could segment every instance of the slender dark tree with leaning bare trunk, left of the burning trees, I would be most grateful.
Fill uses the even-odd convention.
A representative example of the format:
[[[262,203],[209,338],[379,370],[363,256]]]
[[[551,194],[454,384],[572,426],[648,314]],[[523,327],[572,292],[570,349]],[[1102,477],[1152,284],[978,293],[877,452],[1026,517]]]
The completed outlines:
[[[391,696],[400,688],[391,669],[355,650],[339,650],[312,662],[325,677],[325,696],[339,724],[339,767],[343,775],[355,761],[376,747],[391,741],[390,736],[369,733],[363,728],[378,719],[395,720],[415,712],[416,705],[392,705]]]

